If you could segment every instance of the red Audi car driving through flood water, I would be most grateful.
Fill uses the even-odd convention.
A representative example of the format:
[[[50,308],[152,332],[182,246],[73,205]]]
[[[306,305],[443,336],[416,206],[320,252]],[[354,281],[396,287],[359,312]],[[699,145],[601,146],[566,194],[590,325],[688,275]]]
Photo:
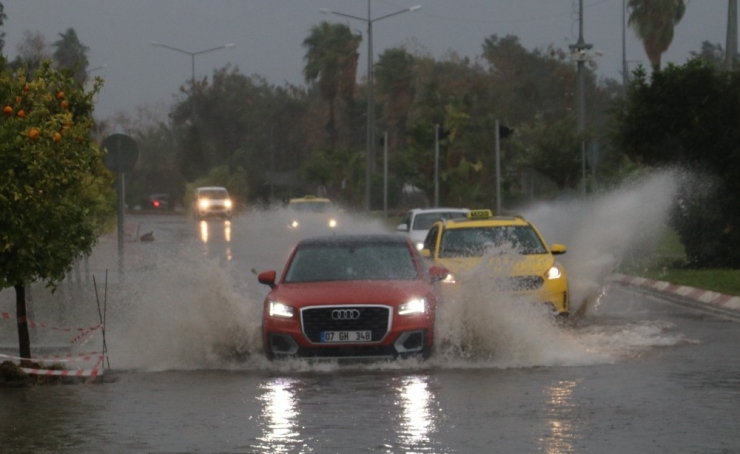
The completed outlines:
[[[434,343],[435,282],[401,235],[334,235],[299,242],[280,281],[260,273],[262,342],[269,359],[427,357]]]

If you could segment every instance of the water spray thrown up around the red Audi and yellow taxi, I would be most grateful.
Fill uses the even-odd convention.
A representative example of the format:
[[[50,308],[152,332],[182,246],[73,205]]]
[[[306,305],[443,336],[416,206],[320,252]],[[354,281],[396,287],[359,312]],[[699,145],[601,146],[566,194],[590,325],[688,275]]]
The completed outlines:
[[[523,213],[549,243],[564,243],[572,309],[588,316],[615,265],[635,249],[649,247],[665,226],[676,175],[656,173],[587,201],[538,205]],[[340,233],[387,232],[383,223],[345,214]],[[233,259],[209,258],[202,242],[154,254],[147,269],[131,275],[132,288],[113,309],[111,358],[117,367],[271,368],[332,370],[335,364],[268,363],[261,355],[260,319],[268,288],[245,270],[282,271],[302,237],[325,234],[323,226],[287,229],[284,210],[249,213],[232,221]],[[238,235],[238,236],[237,236]],[[499,251],[500,253],[500,251]],[[438,308],[437,349],[429,361],[399,361],[383,368],[531,367],[615,361],[626,350],[675,344],[660,323],[587,329],[554,322],[548,310],[497,288],[482,269],[465,277],[454,299]]]

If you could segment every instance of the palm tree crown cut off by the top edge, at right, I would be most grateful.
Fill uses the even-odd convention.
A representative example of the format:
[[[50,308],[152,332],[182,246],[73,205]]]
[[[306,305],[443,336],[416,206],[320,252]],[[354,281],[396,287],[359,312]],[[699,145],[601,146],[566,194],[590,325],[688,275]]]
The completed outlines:
[[[686,12],[684,0],[629,0],[628,23],[642,40],[653,69],[673,41],[673,31]]]

